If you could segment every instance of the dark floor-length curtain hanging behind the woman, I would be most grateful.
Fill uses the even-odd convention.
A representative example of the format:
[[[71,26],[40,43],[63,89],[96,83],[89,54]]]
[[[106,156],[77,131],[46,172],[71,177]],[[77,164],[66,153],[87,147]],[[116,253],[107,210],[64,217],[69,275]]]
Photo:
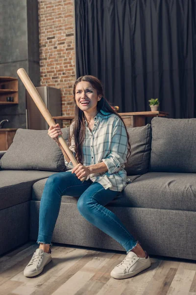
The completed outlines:
[[[76,71],[119,112],[196,117],[196,0],[75,0]]]

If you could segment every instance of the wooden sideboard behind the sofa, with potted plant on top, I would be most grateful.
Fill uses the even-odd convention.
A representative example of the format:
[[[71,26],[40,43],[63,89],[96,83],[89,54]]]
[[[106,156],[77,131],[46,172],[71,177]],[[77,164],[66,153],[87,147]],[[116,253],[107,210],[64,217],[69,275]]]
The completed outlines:
[[[160,111],[149,111],[149,112],[132,112],[132,113],[118,113],[126,127],[139,127],[145,126],[147,117],[167,117],[169,113],[160,112]],[[52,117],[54,121],[56,120],[66,120],[72,123],[74,116],[60,116],[60,117]]]

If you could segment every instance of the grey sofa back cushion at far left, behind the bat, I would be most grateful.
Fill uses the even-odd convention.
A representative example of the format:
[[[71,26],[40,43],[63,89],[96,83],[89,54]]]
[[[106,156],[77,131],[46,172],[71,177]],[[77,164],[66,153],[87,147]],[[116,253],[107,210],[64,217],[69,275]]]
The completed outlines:
[[[62,128],[68,144],[70,127]],[[0,159],[3,170],[65,171],[61,149],[48,135],[48,130],[21,129],[16,131],[13,143]]]

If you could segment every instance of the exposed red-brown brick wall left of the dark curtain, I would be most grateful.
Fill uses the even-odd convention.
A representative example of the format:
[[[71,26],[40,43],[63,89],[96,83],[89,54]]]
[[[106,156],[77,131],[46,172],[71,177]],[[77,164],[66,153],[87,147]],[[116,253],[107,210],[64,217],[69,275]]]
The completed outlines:
[[[76,79],[73,0],[38,0],[38,7],[41,86],[60,88],[62,116],[72,116]]]

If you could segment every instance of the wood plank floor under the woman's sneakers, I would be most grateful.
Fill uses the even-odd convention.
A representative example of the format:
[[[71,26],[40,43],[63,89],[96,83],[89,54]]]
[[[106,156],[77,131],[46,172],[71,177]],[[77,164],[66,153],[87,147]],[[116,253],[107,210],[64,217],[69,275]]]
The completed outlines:
[[[150,256],[148,269],[117,280],[110,272],[126,252],[53,243],[52,261],[27,278],[37,248],[33,241],[0,256],[0,295],[196,295],[196,261]]]

